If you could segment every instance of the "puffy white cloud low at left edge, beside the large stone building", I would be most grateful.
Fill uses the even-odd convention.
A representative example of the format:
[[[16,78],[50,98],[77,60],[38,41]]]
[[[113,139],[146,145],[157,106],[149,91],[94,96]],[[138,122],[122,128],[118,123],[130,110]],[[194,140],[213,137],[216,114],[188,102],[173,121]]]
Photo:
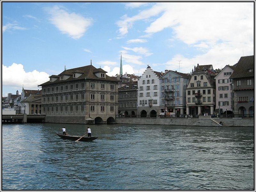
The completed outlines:
[[[2,85],[12,88],[21,88],[37,90],[37,85],[49,81],[49,76],[45,72],[36,70],[26,72],[22,64],[12,63],[7,67],[2,65]]]

